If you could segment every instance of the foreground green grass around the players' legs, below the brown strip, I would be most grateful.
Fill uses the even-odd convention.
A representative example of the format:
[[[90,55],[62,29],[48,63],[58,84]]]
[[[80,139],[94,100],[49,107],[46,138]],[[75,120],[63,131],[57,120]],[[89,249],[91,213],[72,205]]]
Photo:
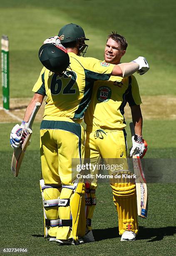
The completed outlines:
[[[157,129],[161,121],[146,121],[145,127],[154,125]],[[150,183],[149,215],[147,220],[139,219],[139,236],[134,243],[120,242],[117,231],[117,214],[112,202],[112,192],[108,183],[99,184],[97,189],[97,207],[94,213],[93,228],[95,243],[80,246],[58,246],[43,238],[42,200],[39,188],[40,151],[39,127],[33,126],[31,145],[27,148],[19,177],[13,177],[10,171],[12,148],[9,141],[10,130],[14,123],[0,124],[2,141],[0,147],[1,163],[1,234],[0,248],[27,248],[30,255],[64,255],[64,256],[110,256],[110,255],[174,255],[175,218],[174,218],[174,183]],[[176,121],[170,121],[174,137]],[[161,131],[164,132],[164,129]],[[128,131],[128,129],[127,129]],[[156,131],[157,132],[157,131]],[[148,134],[148,135],[147,135]],[[171,148],[167,141],[152,143],[154,137],[150,131],[146,140],[150,141],[147,157],[169,158],[176,153],[174,141]],[[130,138],[128,138],[128,141]],[[156,141],[155,141],[156,142]],[[129,142],[130,145],[130,142]],[[171,153],[172,152],[172,153]],[[171,155],[173,154],[173,156]],[[163,171],[163,170],[162,170]],[[171,174],[166,169],[168,175]],[[155,176],[154,176],[155,178]],[[12,255],[12,254],[10,254]]]

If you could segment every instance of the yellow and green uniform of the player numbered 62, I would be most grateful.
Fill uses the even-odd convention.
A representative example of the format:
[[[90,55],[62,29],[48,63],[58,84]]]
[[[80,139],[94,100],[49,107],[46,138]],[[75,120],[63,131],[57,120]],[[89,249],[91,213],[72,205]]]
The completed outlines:
[[[74,185],[77,177],[72,172],[72,159],[76,158],[81,161],[84,158],[85,134],[84,128],[79,123],[83,119],[84,112],[90,102],[94,82],[97,79],[108,80],[114,69],[113,64],[107,64],[94,58],[83,58],[74,53],[69,53],[69,59],[69,68],[62,77],[43,68],[32,90],[47,96],[40,126],[42,178],[45,185],[58,187],[61,184],[62,187]],[[54,187],[54,189],[56,188]],[[78,197],[83,198],[83,190],[80,186],[77,186],[75,193],[79,194]],[[48,192],[46,195],[47,199],[44,198],[44,201],[48,200],[48,204],[51,203],[50,199],[57,200],[54,197],[58,192],[55,192],[55,195],[53,193],[50,188],[50,193]],[[70,200],[70,205],[68,203],[64,207],[59,207],[60,219],[70,219],[71,205],[74,205],[74,207],[76,205],[76,202],[72,202],[73,198],[77,198],[73,195],[75,193],[67,187],[62,188],[59,192],[58,195],[60,200],[62,199],[62,203],[66,202],[64,200],[68,202]],[[43,197],[45,197],[45,194],[43,192]],[[45,205],[47,205],[47,202],[45,202]],[[47,219],[53,220],[54,214],[52,211],[45,211],[45,213]],[[72,217],[73,215],[75,216],[74,212],[72,212]],[[58,213],[54,220],[57,219]],[[72,223],[74,223],[74,220]],[[77,228],[77,226],[79,229],[78,220],[75,220],[75,227]],[[77,230],[74,230],[73,225],[72,232],[69,226],[59,226],[59,228],[50,227],[48,234],[56,236],[56,231],[57,239],[68,239],[73,236],[74,240],[77,240]],[[81,230],[79,235],[84,235],[83,233],[84,231]]]

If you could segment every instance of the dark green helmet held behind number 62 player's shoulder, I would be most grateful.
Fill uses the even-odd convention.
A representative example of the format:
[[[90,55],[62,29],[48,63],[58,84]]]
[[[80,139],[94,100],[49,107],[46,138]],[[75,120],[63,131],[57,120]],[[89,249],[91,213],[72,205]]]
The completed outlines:
[[[39,59],[50,71],[61,74],[69,66],[67,51],[55,44],[44,44],[39,50]]]

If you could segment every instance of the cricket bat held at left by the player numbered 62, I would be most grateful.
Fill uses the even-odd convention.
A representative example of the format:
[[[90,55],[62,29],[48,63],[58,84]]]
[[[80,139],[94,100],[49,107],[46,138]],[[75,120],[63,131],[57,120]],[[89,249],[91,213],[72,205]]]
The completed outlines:
[[[16,148],[13,152],[12,162],[11,162],[11,170],[15,177],[18,176],[20,166],[22,163],[22,159],[25,155],[26,148],[30,143],[30,138],[32,136],[32,124],[34,122],[37,111],[40,108],[40,105],[41,105],[40,102],[36,102],[35,107],[30,116],[30,120],[27,123],[27,127],[22,131],[23,143],[20,145],[19,148]]]

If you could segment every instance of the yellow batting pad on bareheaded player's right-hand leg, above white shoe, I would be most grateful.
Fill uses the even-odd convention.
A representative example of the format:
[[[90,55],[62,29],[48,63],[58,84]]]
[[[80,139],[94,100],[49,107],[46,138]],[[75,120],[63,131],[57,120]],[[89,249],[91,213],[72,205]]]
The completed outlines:
[[[131,175],[131,172],[120,172],[118,183],[111,184],[119,217],[119,234],[124,231],[138,233],[136,184],[134,179],[124,178],[123,174]]]

